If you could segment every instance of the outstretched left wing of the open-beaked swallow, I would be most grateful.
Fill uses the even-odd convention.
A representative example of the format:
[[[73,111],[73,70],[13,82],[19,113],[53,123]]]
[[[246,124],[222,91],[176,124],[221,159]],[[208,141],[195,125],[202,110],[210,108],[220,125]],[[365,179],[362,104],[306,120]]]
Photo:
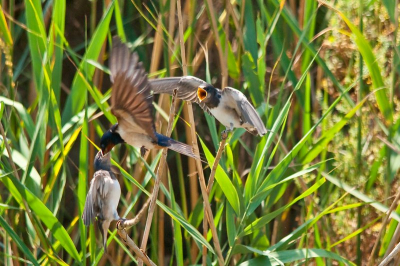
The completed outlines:
[[[195,102],[204,110],[208,109],[204,103],[200,103],[197,97],[197,89],[200,85],[209,85],[202,79],[193,76],[160,78],[149,80],[154,94],[173,95],[177,90],[176,97],[185,101]],[[206,110],[208,111],[208,110]]]

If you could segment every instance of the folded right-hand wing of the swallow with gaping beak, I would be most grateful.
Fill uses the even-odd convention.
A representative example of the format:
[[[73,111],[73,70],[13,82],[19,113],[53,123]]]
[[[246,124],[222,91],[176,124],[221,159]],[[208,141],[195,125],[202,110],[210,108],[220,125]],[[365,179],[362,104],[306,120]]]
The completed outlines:
[[[267,133],[267,129],[254,106],[247,100],[246,96],[230,87],[222,90],[222,93],[229,96],[236,102],[237,112],[243,122],[243,127],[253,135],[263,136]]]

